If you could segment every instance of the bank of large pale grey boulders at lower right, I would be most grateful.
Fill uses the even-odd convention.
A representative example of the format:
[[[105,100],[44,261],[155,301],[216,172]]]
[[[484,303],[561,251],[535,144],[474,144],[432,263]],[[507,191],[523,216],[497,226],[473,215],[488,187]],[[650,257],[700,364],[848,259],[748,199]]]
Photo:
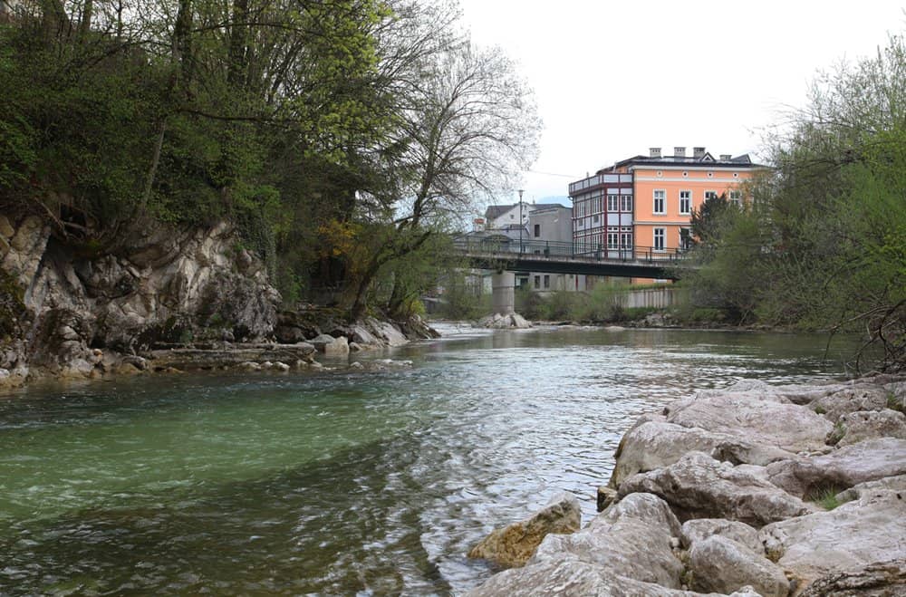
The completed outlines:
[[[904,412],[890,376],[673,402],[623,436],[601,514],[570,533],[560,497],[495,531],[471,555],[525,565],[468,594],[904,595]]]

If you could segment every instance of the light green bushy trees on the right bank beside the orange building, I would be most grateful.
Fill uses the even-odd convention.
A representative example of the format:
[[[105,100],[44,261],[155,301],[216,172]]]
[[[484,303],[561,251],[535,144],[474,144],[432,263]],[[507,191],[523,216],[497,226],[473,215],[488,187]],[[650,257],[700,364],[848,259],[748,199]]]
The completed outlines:
[[[906,368],[906,45],[823,74],[743,211],[693,251],[694,304],[739,323],[858,334],[855,371]]]

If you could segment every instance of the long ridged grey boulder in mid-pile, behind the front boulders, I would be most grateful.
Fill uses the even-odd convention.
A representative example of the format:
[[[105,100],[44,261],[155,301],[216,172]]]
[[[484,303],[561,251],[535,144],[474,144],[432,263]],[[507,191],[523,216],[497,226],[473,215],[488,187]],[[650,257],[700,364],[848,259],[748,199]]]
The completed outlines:
[[[718,462],[690,452],[670,467],[634,475],[623,481],[620,496],[648,492],[660,496],[680,520],[728,518],[760,527],[810,510],[751,469]]]

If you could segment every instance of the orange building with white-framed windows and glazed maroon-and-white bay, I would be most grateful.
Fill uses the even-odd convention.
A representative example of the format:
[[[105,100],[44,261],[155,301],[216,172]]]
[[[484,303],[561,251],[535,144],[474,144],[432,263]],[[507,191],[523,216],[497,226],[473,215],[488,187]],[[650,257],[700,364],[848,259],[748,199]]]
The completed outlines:
[[[616,258],[677,253],[690,216],[711,196],[742,202],[740,184],[764,169],[748,155],[720,155],[703,147],[672,156],[651,148],[649,156],[623,159],[569,186],[576,253]]]

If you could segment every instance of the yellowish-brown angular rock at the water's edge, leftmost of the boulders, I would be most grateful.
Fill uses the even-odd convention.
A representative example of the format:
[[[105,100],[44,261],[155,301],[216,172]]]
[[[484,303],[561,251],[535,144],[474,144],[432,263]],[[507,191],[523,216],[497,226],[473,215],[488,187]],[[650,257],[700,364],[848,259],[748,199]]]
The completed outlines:
[[[548,534],[574,533],[582,522],[579,501],[570,494],[552,497],[547,506],[524,521],[495,529],[468,552],[501,566],[521,566]]]

